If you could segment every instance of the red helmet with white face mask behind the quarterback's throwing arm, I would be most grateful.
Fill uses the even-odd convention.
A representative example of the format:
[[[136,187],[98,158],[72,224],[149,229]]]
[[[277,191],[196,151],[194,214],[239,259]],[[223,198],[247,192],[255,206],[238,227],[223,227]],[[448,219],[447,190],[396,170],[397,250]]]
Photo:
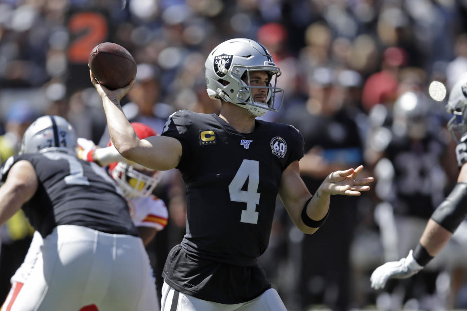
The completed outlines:
[[[158,135],[146,124],[131,122],[131,126],[140,139]],[[112,141],[109,141],[108,145],[111,146]],[[123,161],[110,163],[108,170],[126,198],[151,195],[162,177],[161,171],[154,171],[137,163],[129,164]]]

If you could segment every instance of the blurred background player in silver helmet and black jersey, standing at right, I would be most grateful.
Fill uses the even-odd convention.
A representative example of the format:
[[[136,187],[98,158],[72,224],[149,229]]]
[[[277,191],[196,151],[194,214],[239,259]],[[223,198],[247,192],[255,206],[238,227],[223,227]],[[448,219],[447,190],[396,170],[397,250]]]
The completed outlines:
[[[430,101],[418,90],[403,92],[392,108],[385,147],[375,166],[376,194],[380,200],[375,217],[386,260],[406,254],[423,232],[426,221],[444,197],[447,176],[446,143],[440,125],[432,120]],[[382,143],[382,141],[381,141]],[[394,308],[411,298],[422,308],[441,304],[436,279],[440,268],[431,266],[408,282],[388,287]]]

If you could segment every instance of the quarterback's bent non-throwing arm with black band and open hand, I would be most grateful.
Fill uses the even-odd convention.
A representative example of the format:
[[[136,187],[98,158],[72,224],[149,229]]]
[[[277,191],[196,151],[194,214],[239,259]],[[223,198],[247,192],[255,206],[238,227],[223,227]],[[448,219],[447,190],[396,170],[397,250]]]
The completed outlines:
[[[370,190],[365,185],[372,182],[373,177],[355,179],[362,169],[363,166],[359,166],[330,173],[311,196],[300,177],[298,162],[292,162],[282,173],[279,196],[293,223],[302,232],[312,234],[324,223],[332,194],[360,195],[360,191]]]

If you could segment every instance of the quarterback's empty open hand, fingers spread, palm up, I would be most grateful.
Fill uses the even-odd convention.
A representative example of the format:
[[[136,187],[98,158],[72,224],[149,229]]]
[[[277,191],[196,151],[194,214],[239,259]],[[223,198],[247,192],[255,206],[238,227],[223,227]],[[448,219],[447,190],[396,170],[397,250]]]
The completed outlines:
[[[360,195],[360,191],[370,190],[370,186],[365,185],[374,181],[373,177],[356,179],[361,170],[363,165],[356,169],[330,173],[323,181],[321,189],[329,194]]]

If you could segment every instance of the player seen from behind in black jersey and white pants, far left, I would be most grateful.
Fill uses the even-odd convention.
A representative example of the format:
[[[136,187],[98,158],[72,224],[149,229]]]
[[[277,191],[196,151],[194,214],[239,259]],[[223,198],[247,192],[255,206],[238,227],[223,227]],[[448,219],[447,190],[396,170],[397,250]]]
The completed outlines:
[[[22,207],[43,240],[2,310],[150,310],[154,277],[123,193],[75,147],[70,123],[43,116],[1,168],[0,225]]]

